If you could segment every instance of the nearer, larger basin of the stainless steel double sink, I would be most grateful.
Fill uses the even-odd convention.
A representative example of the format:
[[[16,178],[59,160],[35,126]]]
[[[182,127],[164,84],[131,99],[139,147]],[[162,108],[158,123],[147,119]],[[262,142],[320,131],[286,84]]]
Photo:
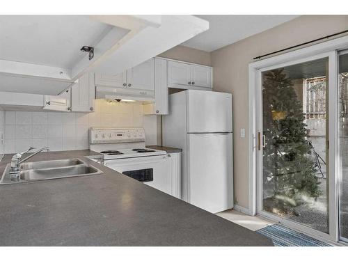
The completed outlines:
[[[102,171],[98,170],[97,168],[80,165],[65,168],[29,169],[26,171],[21,171],[19,173],[19,178],[21,180],[49,180],[61,177],[74,177],[100,173],[102,173]]]

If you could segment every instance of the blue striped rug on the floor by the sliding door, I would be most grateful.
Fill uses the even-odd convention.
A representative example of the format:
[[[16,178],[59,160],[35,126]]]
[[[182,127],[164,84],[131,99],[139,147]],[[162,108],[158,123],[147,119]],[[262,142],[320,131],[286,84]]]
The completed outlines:
[[[266,228],[256,230],[256,232],[269,237],[274,246],[330,246],[280,224],[267,226]]]

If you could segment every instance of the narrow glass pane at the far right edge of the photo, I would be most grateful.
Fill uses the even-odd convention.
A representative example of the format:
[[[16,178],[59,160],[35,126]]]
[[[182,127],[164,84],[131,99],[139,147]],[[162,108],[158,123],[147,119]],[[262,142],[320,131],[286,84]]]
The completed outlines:
[[[339,56],[340,236],[348,239],[348,54]]]

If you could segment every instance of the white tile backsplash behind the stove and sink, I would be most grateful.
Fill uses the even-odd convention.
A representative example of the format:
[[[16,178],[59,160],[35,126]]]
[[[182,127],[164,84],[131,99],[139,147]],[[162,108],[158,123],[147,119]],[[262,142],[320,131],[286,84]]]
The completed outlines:
[[[94,113],[0,111],[4,113],[3,151],[22,152],[29,146],[49,146],[52,151],[88,149],[88,129],[97,126],[145,127],[148,144],[155,144],[153,137],[156,134],[152,132],[156,129],[156,116],[143,116],[141,103],[106,100],[96,100],[95,103]]]

